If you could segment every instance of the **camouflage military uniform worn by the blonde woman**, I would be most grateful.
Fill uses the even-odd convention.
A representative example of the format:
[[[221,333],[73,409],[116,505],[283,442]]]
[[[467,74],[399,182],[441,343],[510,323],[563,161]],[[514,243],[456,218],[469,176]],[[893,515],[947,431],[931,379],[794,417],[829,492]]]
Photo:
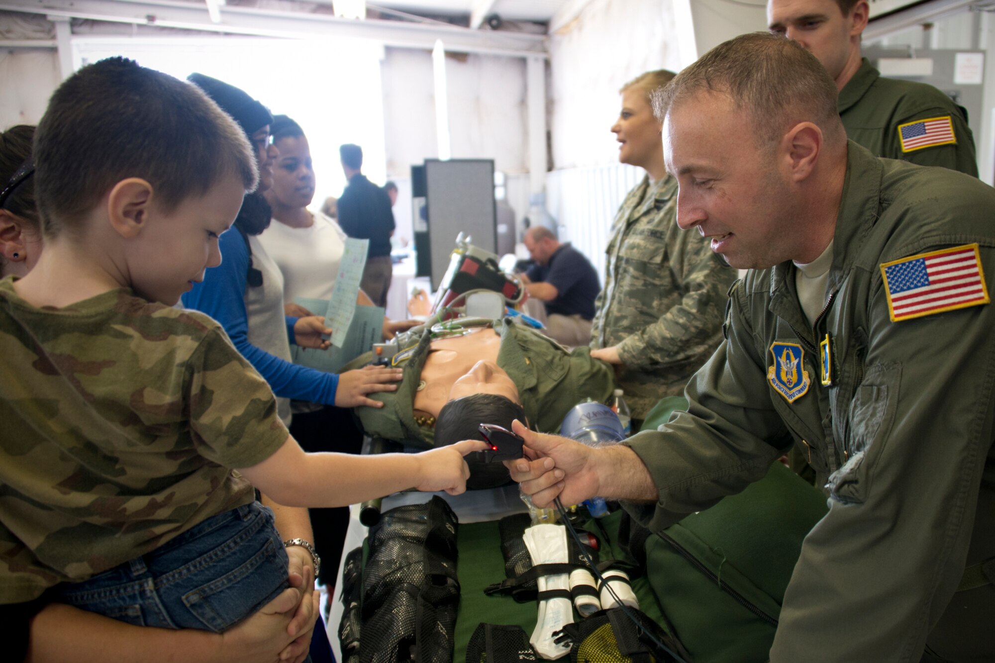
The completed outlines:
[[[591,347],[618,345],[617,382],[637,419],[685,384],[722,339],[736,272],[697,232],[677,224],[678,183],[650,178],[626,196],[608,242],[605,289],[595,302]]]

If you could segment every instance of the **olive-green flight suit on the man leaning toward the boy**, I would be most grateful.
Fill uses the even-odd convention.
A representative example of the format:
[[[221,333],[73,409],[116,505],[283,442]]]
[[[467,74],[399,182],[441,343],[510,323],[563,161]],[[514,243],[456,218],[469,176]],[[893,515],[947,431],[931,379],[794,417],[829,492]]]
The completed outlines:
[[[992,660],[995,584],[954,591],[965,566],[995,565],[995,307],[892,322],[880,266],[977,243],[990,291],[993,210],[977,179],[851,141],[814,329],[790,262],[750,271],[730,291],[725,341],[689,383],[689,411],[628,442],[660,493],[626,507],[655,532],[762,478],[792,444],[811,454],[830,510],[802,546],[775,663],[914,662],[927,642],[948,660]],[[775,343],[804,351],[795,385],[810,384],[793,402],[772,382],[785,367]]]

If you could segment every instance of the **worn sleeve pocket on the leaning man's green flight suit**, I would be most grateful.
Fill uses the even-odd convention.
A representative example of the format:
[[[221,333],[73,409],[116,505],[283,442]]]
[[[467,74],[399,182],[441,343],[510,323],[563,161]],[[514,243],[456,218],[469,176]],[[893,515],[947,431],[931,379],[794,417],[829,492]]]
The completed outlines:
[[[843,441],[846,461],[826,484],[830,498],[843,504],[864,503],[871,490],[872,470],[885,451],[895,421],[900,367],[875,366],[868,373],[865,383],[857,387],[847,414],[849,434]]]

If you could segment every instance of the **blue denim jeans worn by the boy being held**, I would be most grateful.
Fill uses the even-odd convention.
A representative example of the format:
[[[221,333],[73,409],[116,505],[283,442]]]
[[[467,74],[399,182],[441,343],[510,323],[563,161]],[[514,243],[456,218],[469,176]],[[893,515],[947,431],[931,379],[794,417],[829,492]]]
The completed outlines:
[[[66,584],[57,600],[136,626],[221,633],[290,586],[287,564],[273,512],[254,502]]]

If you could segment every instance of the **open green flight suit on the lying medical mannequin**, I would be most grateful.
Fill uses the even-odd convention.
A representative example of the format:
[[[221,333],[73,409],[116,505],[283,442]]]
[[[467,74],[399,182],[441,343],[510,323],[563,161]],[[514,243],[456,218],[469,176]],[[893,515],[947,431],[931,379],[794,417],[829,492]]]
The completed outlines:
[[[576,347],[568,352],[555,340],[509,321],[494,322],[500,334],[497,365],[518,387],[518,396],[525,416],[542,432],[559,432],[563,417],[574,405],[590,397],[607,402],[615,388],[614,373],[604,361],[591,358],[588,347]],[[370,398],[384,403],[382,408],[355,408],[367,435],[431,447],[433,431],[415,423],[413,404],[422,366],[429,354],[432,338],[425,333],[413,343],[413,351],[397,365],[404,368],[404,379],[397,391],[371,393]],[[345,368],[357,368],[369,363],[366,353]]]

